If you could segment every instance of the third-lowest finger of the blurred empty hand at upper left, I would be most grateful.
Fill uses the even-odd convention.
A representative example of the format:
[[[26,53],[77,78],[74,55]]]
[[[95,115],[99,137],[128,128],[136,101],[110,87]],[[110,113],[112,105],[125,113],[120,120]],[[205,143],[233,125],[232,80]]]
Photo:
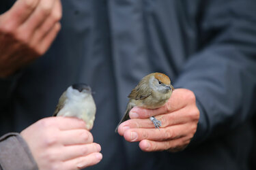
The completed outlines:
[[[35,11],[22,25],[23,30],[31,35],[48,18],[53,10],[56,0],[40,0]]]

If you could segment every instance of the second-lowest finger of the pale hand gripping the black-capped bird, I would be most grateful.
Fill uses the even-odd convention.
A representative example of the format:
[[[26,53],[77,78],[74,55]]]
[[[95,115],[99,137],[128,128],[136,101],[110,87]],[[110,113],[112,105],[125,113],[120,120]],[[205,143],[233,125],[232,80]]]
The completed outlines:
[[[84,145],[65,146],[59,151],[60,160],[66,161],[81,156],[87,156],[94,152],[100,152],[101,147],[98,143],[89,143]]]

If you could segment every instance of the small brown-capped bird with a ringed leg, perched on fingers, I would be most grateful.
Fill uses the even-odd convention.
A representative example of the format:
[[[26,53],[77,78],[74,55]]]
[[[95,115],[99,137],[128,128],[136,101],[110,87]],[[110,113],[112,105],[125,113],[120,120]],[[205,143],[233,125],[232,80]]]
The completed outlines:
[[[126,112],[120,120],[119,124],[130,119],[129,112],[134,106],[143,107],[146,109],[156,109],[165,105],[168,99],[171,97],[174,88],[171,85],[170,78],[164,73],[150,73],[146,75],[139,84],[132,89],[128,98],[130,98]],[[150,120],[154,123],[154,126],[159,129],[161,122],[150,117]],[[118,126],[115,129],[117,132]]]

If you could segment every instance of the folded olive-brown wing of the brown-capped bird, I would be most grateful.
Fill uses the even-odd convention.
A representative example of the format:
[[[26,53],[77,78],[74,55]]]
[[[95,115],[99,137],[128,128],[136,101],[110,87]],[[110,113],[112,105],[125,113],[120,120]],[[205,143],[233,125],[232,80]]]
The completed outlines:
[[[148,88],[145,88],[145,86],[136,86],[132,89],[132,92],[130,92],[128,97],[134,100],[143,100],[152,94],[151,90],[147,89]]]

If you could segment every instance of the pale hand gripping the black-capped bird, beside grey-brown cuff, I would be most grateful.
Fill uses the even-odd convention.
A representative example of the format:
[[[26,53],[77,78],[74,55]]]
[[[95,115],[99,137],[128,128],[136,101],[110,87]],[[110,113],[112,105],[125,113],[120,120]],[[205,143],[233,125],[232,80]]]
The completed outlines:
[[[42,169],[83,169],[102,159],[100,145],[77,118],[51,117],[35,122],[20,135]]]

